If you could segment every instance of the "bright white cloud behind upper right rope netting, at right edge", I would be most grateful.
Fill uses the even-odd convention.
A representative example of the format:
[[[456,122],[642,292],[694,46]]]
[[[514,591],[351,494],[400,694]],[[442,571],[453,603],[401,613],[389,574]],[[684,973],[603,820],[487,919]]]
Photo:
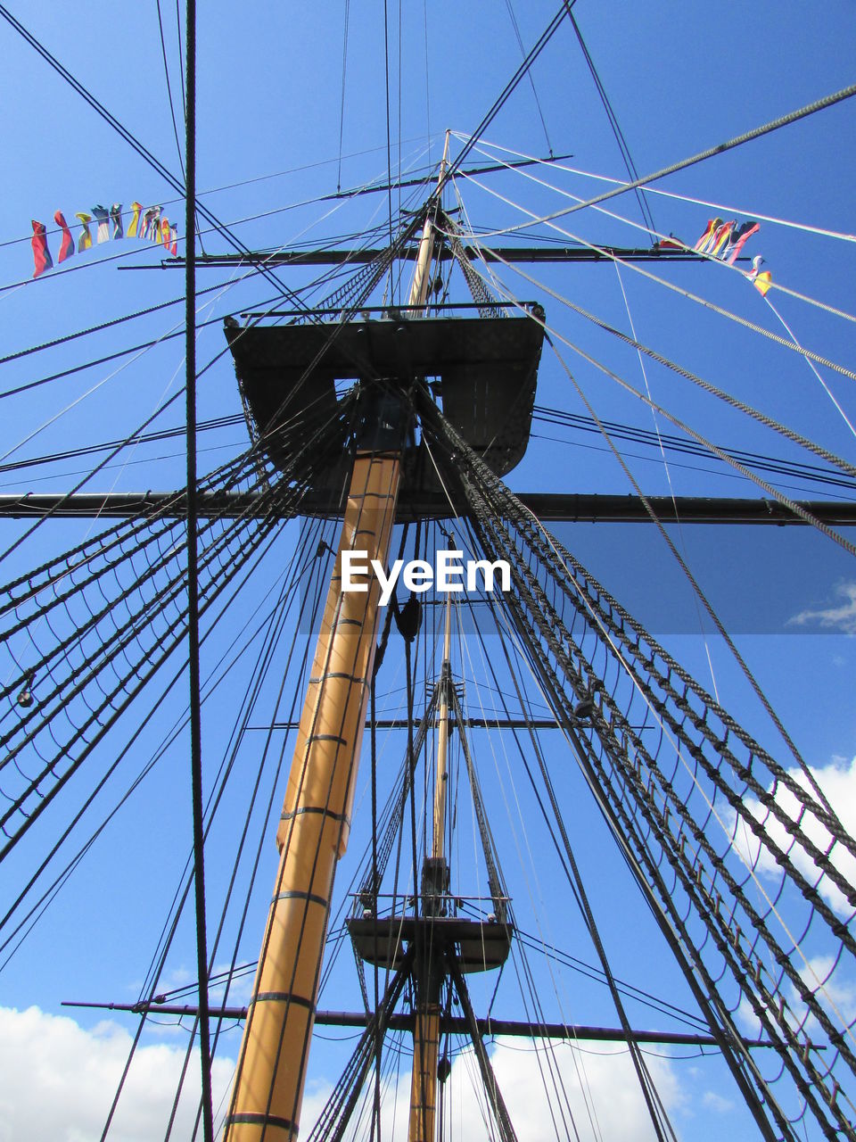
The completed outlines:
[[[809,766],[809,769],[847,833],[851,837],[856,836],[856,757],[846,764],[833,763],[825,766]],[[789,774],[798,786],[809,789],[816,799],[816,794],[810,789],[809,780],[801,770],[790,770]],[[781,782],[776,790],[776,804],[785,817],[792,821],[800,820],[802,807],[800,801]],[[743,805],[746,813],[754,817],[758,821],[764,822],[765,830],[772,842],[785,852],[790,850],[791,860],[809,883],[815,884],[818,882],[819,869],[815,864],[814,859],[801,845],[793,844],[792,837],[784,825],[774,818],[756,797],[748,796]],[[776,863],[775,858],[766,846],[760,844],[754,834],[750,833],[749,826],[740,823],[734,814],[730,814],[730,819],[735,850],[750,864],[757,867],[760,872],[769,876],[781,876],[782,870]],[[821,852],[825,852],[829,849],[832,837],[825,826],[808,813],[802,817],[800,825],[808,839]],[[831,852],[830,861],[848,884],[856,885],[856,856],[853,856],[840,844],[837,844]],[[819,878],[817,890],[830,907],[834,908],[839,915],[849,916],[853,912],[843,893],[825,874]]]

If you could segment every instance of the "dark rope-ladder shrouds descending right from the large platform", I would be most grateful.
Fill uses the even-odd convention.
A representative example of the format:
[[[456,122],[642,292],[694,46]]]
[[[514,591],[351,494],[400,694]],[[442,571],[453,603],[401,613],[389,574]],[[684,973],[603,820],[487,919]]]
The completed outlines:
[[[550,589],[557,595],[556,602],[550,604],[540,585],[541,573],[539,572],[536,578],[535,570],[530,569],[525,557],[522,561],[520,549],[515,544],[525,542],[532,553],[530,558],[534,556],[538,560],[534,568],[541,566],[542,569],[546,569],[550,561],[555,562],[555,557],[550,554],[550,547],[539,538],[538,529],[527,521],[523,509],[515,506],[510,493],[470,452],[453,429],[439,418],[439,413],[433,407],[425,404],[422,416],[423,426],[430,427],[431,437],[439,445],[441,453],[455,457],[452,467],[444,465],[444,468],[450,477],[454,476],[455,481],[460,482],[461,490],[470,504],[474,526],[485,553],[494,558],[500,554],[510,557],[512,568],[516,568],[512,571],[516,581],[515,594],[510,597],[507,596],[507,601],[515,616],[515,625],[528,645],[531,654],[534,656],[532,661],[536,666],[541,685],[548,695],[554,695],[551,701],[558,702],[556,708],[565,710],[562,715],[563,724],[565,724],[571,739],[576,743],[581,758],[584,759],[583,769],[589,772],[589,783],[593,790],[600,790],[599,804],[607,813],[607,818],[613,820],[614,828],[619,829],[619,836],[629,839],[631,849],[625,851],[633,861],[638,862],[643,883],[647,883],[659,896],[660,902],[656,906],[659,915],[663,923],[668,924],[673,936],[693,956],[696,978],[704,982],[708,1002],[712,1003],[719,1013],[714,1023],[714,1034],[721,1035],[720,1028],[730,1028],[728,1035],[734,1049],[738,1053],[735,1056],[735,1077],[743,1075],[744,1078],[738,1078],[738,1081],[743,1083],[744,1086],[751,1079],[757,1092],[754,1096],[757,1117],[758,1115],[765,1117],[768,1112],[760,1107],[760,1096],[766,1100],[766,1107],[773,1113],[778,1128],[785,1133],[785,1136],[792,1136],[789,1133],[790,1127],[786,1125],[786,1116],[781,1112],[775,1100],[772,1100],[768,1085],[749,1057],[745,1047],[742,1046],[732,1016],[722,1004],[712,976],[704,967],[701,950],[704,947],[704,941],[700,944],[696,938],[695,943],[693,942],[693,938],[691,938],[685,922],[677,910],[671,890],[662,882],[657,866],[663,861],[676,877],[676,892],[685,893],[691,904],[689,918],[695,917],[694,923],[701,922],[702,931],[706,931],[708,938],[712,936],[713,947],[724,958],[741,991],[752,1003],[756,1014],[759,1015],[762,1026],[766,1027],[774,1040],[782,1063],[791,1076],[796,1088],[807,1100],[811,1112],[822,1124],[834,1121],[841,1127],[846,1119],[842,1117],[843,1111],[839,1105],[839,1099],[842,1095],[839,1095],[839,1084],[832,1077],[833,1068],[840,1060],[846,1067],[853,1069],[856,1056],[846,1042],[850,1038],[847,1024],[843,1024],[842,1037],[841,1030],[835,1028],[834,1021],[827,1015],[827,1008],[818,1003],[818,994],[826,990],[824,983],[819,982],[817,988],[806,983],[801,970],[798,970],[780,946],[765,916],[749,901],[741,880],[730,871],[730,861],[736,860],[737,863],[744,863],[734,841],[732,841],[725,856],[720,855],[720,850],[714,847],[706,837],[704,822],[700,826],[692,814],[693,797],[679,791],[679,787],[673,783],[675,779],[668,775],[659,764],[656,756],[649,754],[638,734],[631,730],[625,716],[615,706],[599,676],[592,671],[590,666],[584,666],[579,642],[572,640],[562,619],[562,612],[556,610],[560,597],[574,604],[573,589],[565,579],[567,570],[555,564],[555,571],[550,574],[557,578],[552,580],[554,586]],[[444,440],[445,443],[442,443]],[[514,521],[514,533],[518,537],[516,541],[512,541],[507,525],[500,522],[503,518]],[[550,542],[558,550],[555,541]],[[550,584],[549,578],[541,581]],[[578,589],[583,592],[587,606],[591,608],[595,614],[600,614],[603,612],[600,590],[596,588],[596,594],[592,595],[590,589],[584,586],[589,581],[590,578],[587,577],[583,584],[578,585]],[[579,603],[574,605],[579,606]],[[580,614],[584,621],[583,629],[587,629],[590,624],[587,608],[583,608]],[[615,624],[613,622],[612,626],[615,627]],[[622,619],[617,630],[623,629],[625,628]],[[539,644],[532,641],[533,636],[540,641]],[[612,633],[611,637],[613,637]],[[786,878],[808,903],[810,915],[822,917],[842,950],[846,949],[850,955],[854,955],[856,944],[842,926],[839,916],[822,899],[810,879],[802,875],[800,866],[794,863],[793,859],[796,846],[796,852],[803,851],[808,854],[818,870],[823,870],[845,898],[849,895],[850,904],[853,904],[853,901],[856,900],[856,890],[841,876],[838,867],[830,859],[832,845],[824,851],[823,845],[818,847],[814,843],[808,833],[809,821],[815,819],[822,822],[830,837],[834,838],[833,844],[842,845],[850,852],[854,849],[853,839],[840,830],[834,817],[831,817],[823,805],[809,795],[808,790],[751,742],[745,732],[740,731],[740,727],[724,711],[716,716],[722,721],[726,727],[725,737],[712,731],[709,718],[711,711],[718,709],[718,705],[712,699],[708,699],[706,695],[702,698],[703,692],[692,682],[685,684],[685,697],[675,691],[673,686],[668,683],[668,677],[664,678],[662,669],[654,667],[654,660],[662,652],[653,643],[649,635],[640,632],[631,643],[628,642],[625,635],[615,634],[614,637],[621,638],[620,669],[630,668],[633,671],[633,684],[640,686],[644,693],[649,694],[647,701],[653,703],[651,708],[657,711],[657,716],[663,718],[677,735],[680,748],[676,753],[676,775],[679,772],[678,766],[681,764],[686,766],[681,759],[681,754],[686,750],[695,765],[695,773],[692,769],[687,771],[692,778],[693,787],[701,788],[698,781],[702,774],[705,780],[712,782],[713,796],[725,796],[735,820],[744,821],[758,837],[759,843],[770,854],[775,854],[775,860]],[[641,667],[640,664],[641,668],[637,669],[632,660],[640,653],[644,645],[652,649],[646,652],[645,666]],[[669,673],[671,673],[670,668]],[[592,705],[593,713],[590,715],[590,731],[587,731],[584,724],[580,725],[574,715],[574,705],[568,705],[568,700],[563,698],[560,691],[556,689],[555,681],[551,681],[563,675],[568,678],[573,686],[573,692],[576,695],[574,702],[579,702],[581,698],[587,695],[596,698]],[[657,685],[667,685],[668,698],[665,701],[651,691],[651,683],[655,678]],[[700,715],[697,706],[693,708],[687,705],[686,695],[689,685],[694,685],[696,701],[702,703],[702,715]],[[672,713],[672,702],[677,707],[677,713]],[[703,745],[695,743],[694,734],[697,732],[711,734],[710,741],[716,750],[712,757],[708,755]],[[590,733],[592,737],[589,735]],[[738,762],[734,756],[730,746],[727,745],[729,735],[733,735],[732,741],[750,742],[749,764]],[[762,763],[761,758],[764,758]],[[772,775],[770,790],[765,787],[760,779],[761,764]],[[751,790],[752,797],[758,798],[764,815],[757,815],[752,811],[751,799],[746,802],[742,790],[730,788],[727,782],[726,765],[743,782],[743,789]],[[591,769],[588,770],[588,766]],[[788,788],[802,806],[797,822],[783,812],[778,801],[780,788]],[[711,820],[714,810],[710,798],[706,803],[709,805],[706,819]],[[675,826],[670,822],[670,818],[675,820],[676,815],[677,820],[681,822],[677,834]],[[721,819],[721,817],[717,819]],[[770,831],[767,821],[773,820],[777,822],[776,828],[783,830],[783,835],[788,838],[785,847],[780,845],[775,839],[775,834]],[[646,831],[640,831],[643,822]],[[681,839],[684,830],[686,830],[686,836]],[[736,837],[734,830],[729,835],[733,838]],[[691,837],[697,845],[694,854],[688,853],[686,847],[686,839]],[[750,866],[750,877],[746,879],[751,878],[752,883],[759,885],[752,868],[753,866]],[[765,893],[765,895],[767,894]],[[654,898],[649,899],[653,902]],[[769,900],[769,896],[767,899]],[[729,904],[729,901],[733,903]],[[745,914],[743,925],[737,924],[738,909]],[[773,903],[769,904],[767,915],[773,915],[777,923],[783,922],[781,910]],[[751,940],[745,935],[746,932],[752,933]],[[786,927],[785,932],[788,932]],[[789,936],[789,939],[793,939],[793,936]],[[770,975],[768,970],[762,966],[754,950],[758,943],[766,943],[770,949],[770,962],[778,965],[777,976]],[[799,955],[799,943],[797,943],[797,951]],[[691,970],[688,979],[692,975],[693,971]],[[780,989],[784,984],[793,987],[800,1010],[805,1012],[802,1016],[796,1014],[791,1003],[781,994]],[[780,998],[783,1000],[781,1005]],[[825,994],[825,1000],[830,1002],[829,992]],[[834,1002],[832,1002],[830,1010],[834,1010]],[[818,1064],[814,1061],[813,1046],[807,1046],[806,1020],[809,1014],[823,1029],[825,1040],[829,1044],[827,1049],[832,1052],[830,1057],[824,1060],[822,1069],[819,1069],[819,1061]],[[818,1042],[814,1035],[813,1039],[815,1044]],[[736,1062],[737,1057],[741,1060],[740,1063]],[[744,1089],[744,1093],[748,1091]],[[765,1136],[772,1135],[766,1134]]]

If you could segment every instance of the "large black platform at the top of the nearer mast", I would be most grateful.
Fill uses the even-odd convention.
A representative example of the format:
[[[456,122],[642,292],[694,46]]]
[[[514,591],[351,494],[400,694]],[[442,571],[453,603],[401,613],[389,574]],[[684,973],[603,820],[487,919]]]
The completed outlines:
[[[455,306],[454,308],[461,308]],[[543,311],[504,315],[422,316],[407,307],[363,309],[362,320],[301,324],[226,323],[252,428],[280,469],[317,435],[329,466],[312,491],[320,501],[342,486],[352,444],[340,396],[347,383],[427,384],[443,413],[496,475],[526,451],[532,427]],[[377,314],[377,316],[375,316]],[[274,315],[272,315],[274,316]],[[433,465],[411,445],[401,500],[439,491]]]

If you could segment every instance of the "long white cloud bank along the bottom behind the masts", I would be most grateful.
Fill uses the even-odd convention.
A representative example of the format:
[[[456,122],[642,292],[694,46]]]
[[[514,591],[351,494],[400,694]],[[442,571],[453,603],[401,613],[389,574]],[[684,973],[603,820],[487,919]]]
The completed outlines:
[[[50,1015],[38,1007],[27,1011],[0,1008],[0,1142],[97,1142],[130,1047],[130,1035],[113,1022],[88,1030],[74,1020]],[[234,1045],[233,1045],[234,1044]],[[523,1049],[522,1049],[523,1047]],[[237,1038],[229,1043],[234,1054]],[[621,1137],[622,1142],[652,1142],[653,1128],[627,1051],[576,1051],[566,1043],[539,1053],[520,1040],[499,1040],[491,1046],[496,1079],[520,1142],[547,1142],[556,1137],[554,1115],[562,1099],[542,1073],[560,1078],[567,1107],[581,1142],[596,1137]],[[156,1142],[163,1137],[172,1096],[184,1059],[184,1047],[150,1044],[138,1047],[119,1110],[111,1142]],[[656,1088],[675,1120],[687,1105],[669,1060],[648,1057]],[[228,1097],[234,1060],[216,1059],[215,1105]],[[458,1055],[446,1084],[455,1136],[483,1137],[485,1128],[473,1053]],[[186,1093],[179,1105],[173,1137],[188,1139],[199,1100],[199,1056],[191,1063]],[[301,1134],[326,1102],[326,1081],[307,1085]],[[402,1069],[397,1091],[385,1100],[383,1136],[406,1137],[410,1073]],[[711,1100],[718,1099],[711,1093]],[[725,1102],[709,1101],[709,1109]],[[552,1111],[551,1111],[552,1107]],[[590,1117],[591,1116],[591,1117]],[[597,1124],[592,1127],[591,1119]]]

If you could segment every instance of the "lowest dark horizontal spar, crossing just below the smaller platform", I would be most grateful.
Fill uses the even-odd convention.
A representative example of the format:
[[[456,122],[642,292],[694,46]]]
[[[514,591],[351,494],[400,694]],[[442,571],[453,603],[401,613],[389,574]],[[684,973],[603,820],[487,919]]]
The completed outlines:
[[[64,1007],[97,1007],[106,1011],[127,1011],[136,1015],[188,1015],[195,1016],[197,1008],[181,1004],[119,1004],[119,1003],[64,1003]],[[211,1007],[213,1019],[245,1019],[245,1007]],[[364,1012],[320,1011],[315,1023],[323,1027],[368,1027],[369,1019]],[[527,1023],[516,1019],[478,1019],[476,1020],[481,1035],[517,1036],[527,1039],[583,1039],[604,1043],[627,1043],[628,1035],[616,1027],[589,1027],[579,1023]],[[387,1022],[390,1031],[412,1031],[413,1015],[390,1015]],[[452,1035],[469,1035],[466,1019],[442,1016],[439,1029]],[[637,1043],[663,1043],[675,1046],[716,1047],[719,1044],[712,1035],[695,1035],[681,1031],[633,1031]],[[775,1044],[766,1039],[744,1039],[750,1047],[772,1047]],[[819,1048],[817,1048],[819,1049]]]

